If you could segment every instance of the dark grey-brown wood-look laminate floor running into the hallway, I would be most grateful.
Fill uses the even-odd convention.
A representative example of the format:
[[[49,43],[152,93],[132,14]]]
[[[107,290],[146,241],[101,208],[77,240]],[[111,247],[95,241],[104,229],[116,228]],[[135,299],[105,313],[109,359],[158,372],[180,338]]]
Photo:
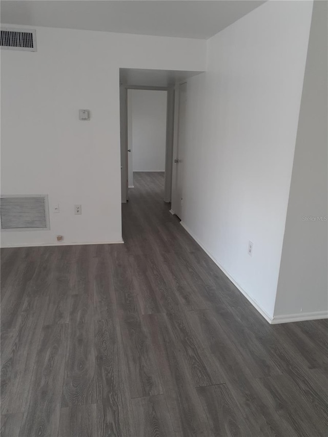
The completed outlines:
[[[125,244],[2,250],[2,437],[327,436],[327,320],[269,325],[162,191]]]

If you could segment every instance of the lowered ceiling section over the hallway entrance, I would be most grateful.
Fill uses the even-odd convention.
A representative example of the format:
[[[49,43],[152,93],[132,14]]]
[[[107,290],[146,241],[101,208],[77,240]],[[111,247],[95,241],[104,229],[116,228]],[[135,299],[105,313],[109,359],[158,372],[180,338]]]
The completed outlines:
[[[139,68],[120,68],[119,81],[123,85],[136,85],[138,87],[170,87],[176,82],[187,80],[196,76],[201,71],[180,70],[144,70]]]

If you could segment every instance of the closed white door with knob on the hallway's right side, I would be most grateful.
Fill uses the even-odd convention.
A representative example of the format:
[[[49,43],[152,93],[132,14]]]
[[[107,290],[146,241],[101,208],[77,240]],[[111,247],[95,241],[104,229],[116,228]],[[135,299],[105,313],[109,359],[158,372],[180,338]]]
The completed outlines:
[[[182,212],[183,202],[183,158],[185,156],[186,147],[186,107],[187,107],[187,82],[181,84],[179,87],[179,110],[178,110],[178,136],[177,136],[177,149],[174,156],[174,180],[172,196],[172,210],[179,217]]]

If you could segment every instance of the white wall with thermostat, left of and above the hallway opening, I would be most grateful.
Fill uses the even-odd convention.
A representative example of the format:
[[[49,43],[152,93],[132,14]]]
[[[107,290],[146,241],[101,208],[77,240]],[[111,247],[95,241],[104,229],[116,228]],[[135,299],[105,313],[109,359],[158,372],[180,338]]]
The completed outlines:
[[[206,41],[51,28],[36,35],[37,52],[1,53],[1,189],[49,194],[51,230],[2,233],[2,244],[51,244],[57,234],[66,243],[120,241],[119,68],[204,70]],[[90,121],[78,120],[79,108],[91,110]]]

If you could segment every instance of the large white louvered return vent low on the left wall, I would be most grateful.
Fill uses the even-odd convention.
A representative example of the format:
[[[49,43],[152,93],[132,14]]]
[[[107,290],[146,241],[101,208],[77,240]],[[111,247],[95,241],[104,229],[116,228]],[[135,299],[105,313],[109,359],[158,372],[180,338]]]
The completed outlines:
[[[1,196],[0,215],[2,231],[50,229],[47,195]]]

